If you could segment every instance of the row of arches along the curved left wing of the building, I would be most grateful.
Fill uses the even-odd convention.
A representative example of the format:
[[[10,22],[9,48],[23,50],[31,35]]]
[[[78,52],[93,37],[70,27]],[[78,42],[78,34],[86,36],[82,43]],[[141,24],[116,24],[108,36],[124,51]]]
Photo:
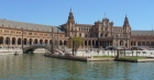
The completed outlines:
[[[31,45],[51,45],[53,39],[45,39],[45,38],[22,38],[21,37],[3,37],[0,36],[0,46],[1,47],[21,47],[22,42],[23,46],[31,46]],[[67,44],[67,41],[64,39],[54,39],[54,44],[58,44],[59,46]]]

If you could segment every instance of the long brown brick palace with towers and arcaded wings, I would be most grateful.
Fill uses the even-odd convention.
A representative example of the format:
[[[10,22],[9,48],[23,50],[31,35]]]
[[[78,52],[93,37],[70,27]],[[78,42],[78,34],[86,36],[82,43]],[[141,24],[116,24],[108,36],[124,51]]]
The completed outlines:
[[[22,38],[23,46],[52,44],[52,41],[58,46],[68,46],[74,36],[82,37],[81,47],[154,46],[154,32],[131,30],[127,15],[122,26],[114,26],[107,18],[94,24],[77,24],[72,9],[67,22],[59,26],[0,20],[1,47],[21,47]]]

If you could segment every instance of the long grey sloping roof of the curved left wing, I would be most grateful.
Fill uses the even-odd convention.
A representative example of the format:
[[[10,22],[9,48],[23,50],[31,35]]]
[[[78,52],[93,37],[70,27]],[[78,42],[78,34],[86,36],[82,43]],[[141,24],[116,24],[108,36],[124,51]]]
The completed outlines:
[[[52,27],[53,27],[54,32],[57,32],[57,30],[59,30],[59,33],[63,33],[63,31],[58,26],[18,22],[18,21],[11,21],[6,19],[0,19],[0,26],[32,30],[32,31],[44,31],[44,32],[52,32]]]

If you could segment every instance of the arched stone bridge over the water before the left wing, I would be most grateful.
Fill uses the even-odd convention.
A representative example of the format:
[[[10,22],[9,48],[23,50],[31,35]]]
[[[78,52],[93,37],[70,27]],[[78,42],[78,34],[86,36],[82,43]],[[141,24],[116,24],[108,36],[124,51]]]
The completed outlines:
[[[23,54],[29,54],[29,53],[33,54],[33,52],[37,48],[44,48],[47,49],[50,53],[52,53],[52,45],[31,45],[31,46],[23,47]]]

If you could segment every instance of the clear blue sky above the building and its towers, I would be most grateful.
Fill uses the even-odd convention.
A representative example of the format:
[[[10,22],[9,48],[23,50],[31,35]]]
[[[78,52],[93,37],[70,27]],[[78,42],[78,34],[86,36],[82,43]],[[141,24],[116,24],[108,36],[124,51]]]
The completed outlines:
[[[122,26],[127,14],[132,30],[154,28],[154,0],[0,0],[0,19],[58,26],[67,22],[70,8],[78,24],[107,16]]]

